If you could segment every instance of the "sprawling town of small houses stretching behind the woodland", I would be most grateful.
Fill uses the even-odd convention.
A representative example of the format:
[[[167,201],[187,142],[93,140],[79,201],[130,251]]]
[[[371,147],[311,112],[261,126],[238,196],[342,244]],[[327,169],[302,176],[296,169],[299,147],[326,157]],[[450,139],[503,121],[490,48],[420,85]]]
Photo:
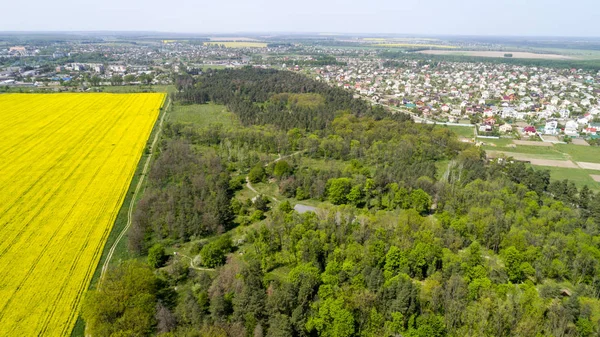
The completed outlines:
[[[465,46],[506,49],[491,43],[432,45],[416,39],[391,44],[363,38],[328,45],[235,37],[13,42],[0,44],[4,91],[113,91],[132,86],[152,91],[153,86],[173,84],[178,74],[252,66],[306,74],[386,106],[391,113],[410,113],[418,122],[474,127],[473,138],[465,141],[503,136],[563,143],[600,137],[600,71],[593,67],[552,64],[558,61],[544,65],[548,58],[570,58],[548,53],[538,54],[541,65],[529,56],[523,59],[529,62],[515,62],[512,52],[503,54],[507,63],[431,53]]]

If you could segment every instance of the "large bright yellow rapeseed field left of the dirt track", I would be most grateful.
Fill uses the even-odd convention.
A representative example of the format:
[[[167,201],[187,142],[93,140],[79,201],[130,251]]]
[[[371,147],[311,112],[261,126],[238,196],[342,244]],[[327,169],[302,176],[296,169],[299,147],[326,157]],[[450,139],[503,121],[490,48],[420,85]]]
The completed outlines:
[[[163,94],[0,95],[0,336],[65,336]]]

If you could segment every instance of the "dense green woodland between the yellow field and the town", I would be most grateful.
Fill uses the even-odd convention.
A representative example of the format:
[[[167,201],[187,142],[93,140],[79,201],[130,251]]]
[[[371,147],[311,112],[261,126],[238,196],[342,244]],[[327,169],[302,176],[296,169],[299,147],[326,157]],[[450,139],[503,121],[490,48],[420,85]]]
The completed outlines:
[[[243,127],[166,125],[129,233],[139,258],[85,299],[93,336],[600,333],[588,188],[297,74],[178,83],[179,104],[225,104]],[[240,198],[246,177],[288,199]],[[192,264],[167,253],[182,249]]]

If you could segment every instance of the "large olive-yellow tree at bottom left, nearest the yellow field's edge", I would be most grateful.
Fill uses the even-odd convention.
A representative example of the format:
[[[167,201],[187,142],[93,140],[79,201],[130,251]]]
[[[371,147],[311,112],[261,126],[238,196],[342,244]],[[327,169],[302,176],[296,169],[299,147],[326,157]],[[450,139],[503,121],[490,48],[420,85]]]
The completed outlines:
[[[87,293],[82,315],[93,336],[147,336],[156,323],[157,280],[152,270],[135,260],[106,274]]]

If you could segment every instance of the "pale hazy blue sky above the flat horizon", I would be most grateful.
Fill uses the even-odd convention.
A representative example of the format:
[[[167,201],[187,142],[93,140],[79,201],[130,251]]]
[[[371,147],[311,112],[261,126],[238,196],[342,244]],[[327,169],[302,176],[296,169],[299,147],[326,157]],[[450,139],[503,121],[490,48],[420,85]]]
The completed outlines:
[[[4,1],[0,31],[600,36],[600,0]]]

